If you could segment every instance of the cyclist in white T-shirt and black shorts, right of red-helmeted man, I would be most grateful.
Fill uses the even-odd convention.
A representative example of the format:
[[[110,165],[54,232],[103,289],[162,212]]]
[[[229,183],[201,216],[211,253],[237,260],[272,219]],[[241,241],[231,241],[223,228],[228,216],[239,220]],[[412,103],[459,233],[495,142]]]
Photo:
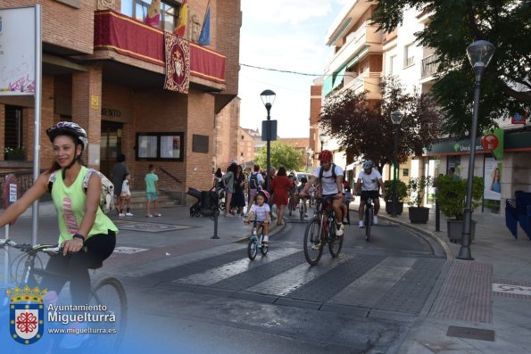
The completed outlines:
[[[372,169],[372,161],[363,162],[362,167],[363,170],[360,172],[354,188],[354,193],[357,194],[360,191],[361,185],[361,202],[360,210],[358,210],[360,228],[365,227],[365,225],[363,225],[363,213],[367,199],[370,197],[374,202],[372,225],[378,225],[378,210],[380,210],[379,187],[382,187],[382,196],[386,195],[386,187],[384,186],[384,181],[382,181],[382,175],[380,175],[376,169]]]

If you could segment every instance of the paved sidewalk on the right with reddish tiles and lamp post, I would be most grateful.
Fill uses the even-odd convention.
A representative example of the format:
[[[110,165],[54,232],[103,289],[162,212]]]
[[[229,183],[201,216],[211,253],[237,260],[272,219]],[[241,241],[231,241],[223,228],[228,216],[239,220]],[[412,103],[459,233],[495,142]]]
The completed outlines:
[[[351,204],[358,210],[358,201]],[[504,216],[474,213],[474,260],[455,259],[460,243],[450,243],[446,220],[436,232],[435,207],[427,224],[411,224],[408,210],[380,218],[415,228],[444,246],[447,267],[432,300],[406,335],[399,353],[528,353],[531,347],[531,241],[519,229],[516,240]],[[353,215],[351,214],[351,217]],[[357,218],[353,218],[357,220]]]

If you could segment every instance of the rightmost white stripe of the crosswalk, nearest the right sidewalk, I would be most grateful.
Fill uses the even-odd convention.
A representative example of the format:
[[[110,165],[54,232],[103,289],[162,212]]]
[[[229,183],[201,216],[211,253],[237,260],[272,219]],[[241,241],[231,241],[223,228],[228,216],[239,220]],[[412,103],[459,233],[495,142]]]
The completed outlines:
[[[413,258],[388,257],[336,293],[328,302],[371,308],[416,261],[417,259]]]

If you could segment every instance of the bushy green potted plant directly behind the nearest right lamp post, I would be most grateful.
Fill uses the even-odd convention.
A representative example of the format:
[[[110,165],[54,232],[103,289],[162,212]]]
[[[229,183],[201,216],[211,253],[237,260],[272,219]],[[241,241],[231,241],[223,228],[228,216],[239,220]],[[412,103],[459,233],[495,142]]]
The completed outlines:
[[[482,177],[474,177],[472,186],[472,210],[481,205],[484,181]],[[452,176],[437,177],[436,200],[446,219],[448,238],[452,243],[460,240],[463,230],[463,213],[467,195],[467,180]],[[474,239],[476,221],[470,226],[470,240]]]

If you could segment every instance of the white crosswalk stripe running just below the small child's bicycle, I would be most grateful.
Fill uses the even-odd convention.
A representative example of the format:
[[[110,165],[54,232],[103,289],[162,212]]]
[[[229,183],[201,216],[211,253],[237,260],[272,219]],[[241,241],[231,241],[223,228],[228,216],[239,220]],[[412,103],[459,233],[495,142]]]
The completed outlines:
[[[248,258],[238,259],[234,262],[226,263],[218,268],[212,268],[202,273],[193,274],[174,280],[173,283],[180,284],[195,284],[195,285],[212,285],[220,282],[223,279],[227,279],[230,276],[236,276],[237,274],[246,272],[255,267],[260,267],[264,263],[269,263],[277,259],[289,256],[296,252],[301,252],[301,249],[297,248],[280,248],[274,252],[269,252],[267,257],[258,256],[254,260]]]

